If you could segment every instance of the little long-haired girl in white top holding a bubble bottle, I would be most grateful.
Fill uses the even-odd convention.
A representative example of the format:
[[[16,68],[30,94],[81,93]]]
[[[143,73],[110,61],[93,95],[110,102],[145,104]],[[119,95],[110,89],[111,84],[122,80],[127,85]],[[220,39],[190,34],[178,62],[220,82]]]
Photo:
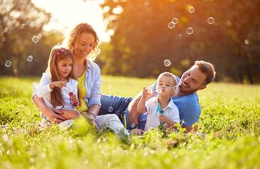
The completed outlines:
[[[37,89],[37,96],[43,98],[48,107],[74,109],[78,106],[77,80],[72,76],[73,55],[70,50],[54,46],[50,52],[48,68]],[[71,114],[75,119],[80,114]],[[45,116],[41,115],[44,119]]]

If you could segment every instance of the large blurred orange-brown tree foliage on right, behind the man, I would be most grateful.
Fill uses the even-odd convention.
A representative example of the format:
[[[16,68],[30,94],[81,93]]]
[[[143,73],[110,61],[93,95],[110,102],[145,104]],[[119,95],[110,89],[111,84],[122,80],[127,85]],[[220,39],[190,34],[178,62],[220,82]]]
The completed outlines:
[[[188,11],[195,8],[194,13]],[[113,30],[112,75],[157,76],[181,72],[195,60],[214,63],[217,80],[259,82],[260,1],[106,0],[107,29]],[[173,18],[175,28],[168,28]],[[207,23],[213,17],[215,23]],[[193,34],[186,33],[193,28]],[[163,65],[170,60],[170,67]]]

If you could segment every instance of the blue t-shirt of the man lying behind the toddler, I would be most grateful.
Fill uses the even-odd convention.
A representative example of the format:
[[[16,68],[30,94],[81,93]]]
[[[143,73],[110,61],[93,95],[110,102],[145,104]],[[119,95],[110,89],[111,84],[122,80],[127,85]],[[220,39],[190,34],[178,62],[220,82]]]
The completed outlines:
[[[180,82],[180,78],[176,77],[176,80],[178,84],[178,82]],[[155,90],[156,82],[151,87]],[[173,99],[173,103],[178,107],[180,124],[182,124],[182,126],[193,126],[193,124],[199,122],[201,108],[197,92],[182,97],[172,97],[171,99]],[[146,119],[147,114],[140,114],[140,129],[144,129]]]

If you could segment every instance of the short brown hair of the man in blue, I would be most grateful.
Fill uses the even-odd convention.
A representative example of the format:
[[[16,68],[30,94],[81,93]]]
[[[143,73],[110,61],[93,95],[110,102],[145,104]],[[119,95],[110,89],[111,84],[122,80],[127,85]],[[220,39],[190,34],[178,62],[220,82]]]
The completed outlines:
[[[215,79],[216,72],[215,72],[214,65],[212,65],[212,63],[205,62],[203,60],[197,60],[195,61],[193,66],[199,67],[200,71],[207,76],[204,85],[209,84]]]

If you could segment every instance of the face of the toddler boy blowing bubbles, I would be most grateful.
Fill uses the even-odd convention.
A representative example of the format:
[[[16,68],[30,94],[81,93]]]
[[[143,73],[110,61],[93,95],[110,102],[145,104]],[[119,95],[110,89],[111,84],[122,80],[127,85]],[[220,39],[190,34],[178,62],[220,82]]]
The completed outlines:
[[[176,83],[173,77],[162,76],[158,79],[156,89],[161,89],[161,95],[171,96],[174,92],[173,87]]]

